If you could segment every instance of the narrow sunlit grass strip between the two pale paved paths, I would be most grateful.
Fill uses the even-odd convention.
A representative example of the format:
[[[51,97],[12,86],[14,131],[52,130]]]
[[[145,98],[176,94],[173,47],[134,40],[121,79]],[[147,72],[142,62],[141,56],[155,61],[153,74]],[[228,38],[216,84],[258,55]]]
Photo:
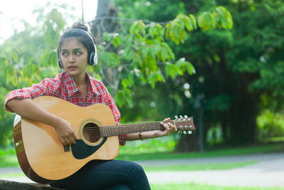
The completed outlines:
[[[199,171],[199,170],[214,170],[214,169],[234,169],[245,167],[258,162],[237,162],[237,163],[218,163],[218,164],[175,164],[162,166],[146,166],[143,169],[148,171]]]

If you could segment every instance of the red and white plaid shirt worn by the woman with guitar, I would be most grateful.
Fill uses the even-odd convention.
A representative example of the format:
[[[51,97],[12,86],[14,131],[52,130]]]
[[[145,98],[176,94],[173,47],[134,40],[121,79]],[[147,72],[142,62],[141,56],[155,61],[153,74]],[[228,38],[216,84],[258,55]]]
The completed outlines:
[[[63,100],[67,100],[68,102],[72,102],[73,104],[81,107],[97,103],[105,104],[111,109],[111,112],[114,114],[116,125],[118,125],[121,115],[107,88],[101,81],[89,77],[87,73],[86,78],[89,85],[85,102],[83,100],[82,93],[75,84],[73,78],[67,72],[63,72],[58,74],[55,78],[46,78],[32,87],[11,91],[11,93],[6,96],[4,104],[5,108],[9,112],[13,112],[6,105],[6,103],[11,99],[33,99],[38,96],[49,95],[53,97],[60,97]],[[119,136],[120,145],[125,145],[125,138],[126,134]]]

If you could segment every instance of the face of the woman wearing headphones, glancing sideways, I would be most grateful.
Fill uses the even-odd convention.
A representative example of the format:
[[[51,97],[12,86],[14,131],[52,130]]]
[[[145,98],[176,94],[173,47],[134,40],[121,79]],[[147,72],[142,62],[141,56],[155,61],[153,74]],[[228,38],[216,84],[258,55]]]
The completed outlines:
[[[67,38],[61,46],[61,60],[65,71],[72,77],[84,75],[88,51],[76,38]]]

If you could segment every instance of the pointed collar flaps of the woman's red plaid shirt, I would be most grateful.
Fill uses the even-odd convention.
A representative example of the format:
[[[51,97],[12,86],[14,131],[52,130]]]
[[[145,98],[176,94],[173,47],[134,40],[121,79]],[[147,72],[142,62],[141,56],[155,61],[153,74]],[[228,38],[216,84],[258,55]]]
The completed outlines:
[[[67,90],[68,97],[71,97],[72,95],[74,95],[75,93],[80,91],[79,88],[77,87],[76,83],[75,83],[75,80],[69,75],[69,73],[67,73],[66,71],[63,72],[62,75],[61,75],[61,78],[62,78],[63,84],[64,84],[64,86]],[[91,78],[89,77],[87,72],[85,73],[85,78],[87,78],[87,81],[88,81],[87,95],[89,95],[89,94],[92,95],[92,93],[94,93],[95,95],[99,96],[99,91],[97,90],[94,83],[91,83]]]

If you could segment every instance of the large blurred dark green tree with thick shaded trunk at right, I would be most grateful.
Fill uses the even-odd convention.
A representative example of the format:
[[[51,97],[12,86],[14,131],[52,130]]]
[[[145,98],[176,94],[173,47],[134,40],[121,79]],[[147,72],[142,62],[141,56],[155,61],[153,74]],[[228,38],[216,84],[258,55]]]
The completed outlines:
[[[197,44],[190,60],[201,74],[192,93],[204,95],[205,123],[221,125],[225,142],[256,142],[261,97],[283,102],[284,6],[281,1],[217,2],[231,11],[234,28],[190,38],[188,44]]]

